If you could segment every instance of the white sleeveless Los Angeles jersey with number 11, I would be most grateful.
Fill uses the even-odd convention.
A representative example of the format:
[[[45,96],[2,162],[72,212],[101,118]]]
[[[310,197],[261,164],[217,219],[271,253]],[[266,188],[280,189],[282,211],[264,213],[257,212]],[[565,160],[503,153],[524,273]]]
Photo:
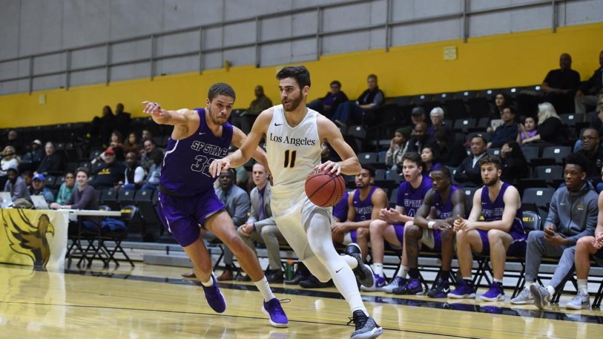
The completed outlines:
[[[308,109],[295,127],[285,119],[283,105],[274,106],[274,114],[266,131],[268,166],[273,176],[273,195],[284,197],[303,192],[306,177],[320,165],[318,112]]]

